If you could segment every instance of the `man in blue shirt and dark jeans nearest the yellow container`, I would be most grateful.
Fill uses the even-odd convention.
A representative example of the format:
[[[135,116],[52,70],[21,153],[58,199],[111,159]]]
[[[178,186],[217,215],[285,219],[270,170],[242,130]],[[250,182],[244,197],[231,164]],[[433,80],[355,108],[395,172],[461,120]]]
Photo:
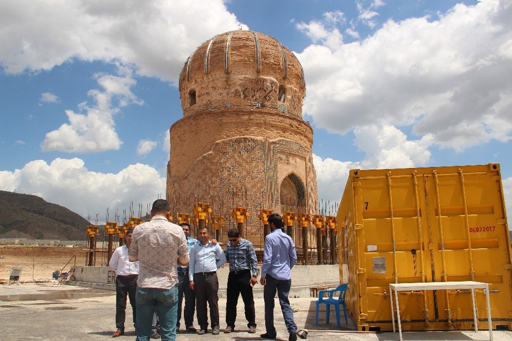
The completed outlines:
[[[290,236],[283,231],[283,220],[279,214],[268,216],[271,233],[265,237],[263,265],[261,267],[261,285],[264,285],[263,299],[265,301],[265,328],[263,338],[274,339],[277,336],[274,327],[274,297],[278,292],[279,304],[283,311],[286,328],[290,333],[289,340],[297,339],[297,326],[293,322],[293,310],[288,300],[291,287],[290,270],[297,262],[295,245]]]

